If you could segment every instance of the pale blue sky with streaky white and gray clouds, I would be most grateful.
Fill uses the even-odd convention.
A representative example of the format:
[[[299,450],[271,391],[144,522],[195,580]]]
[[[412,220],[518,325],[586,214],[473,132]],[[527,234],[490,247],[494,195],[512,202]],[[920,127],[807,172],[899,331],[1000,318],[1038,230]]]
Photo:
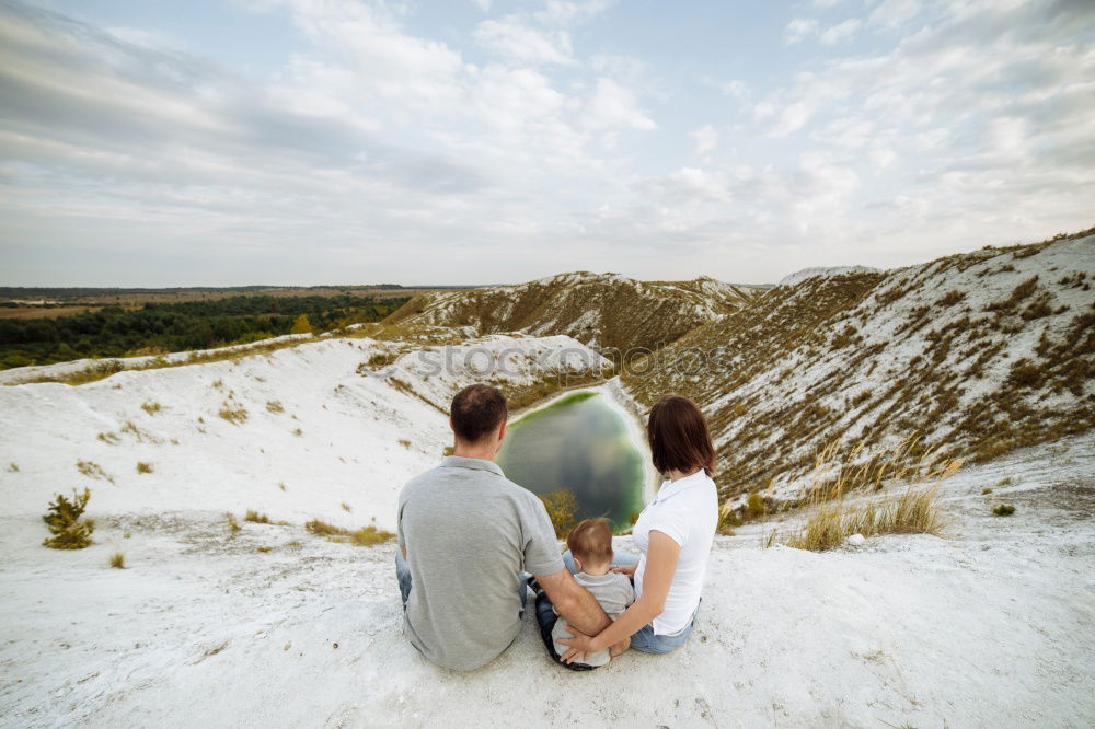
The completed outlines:
[[[0,0],[0,286],[774,282],[1093,201],[1090,0]]]

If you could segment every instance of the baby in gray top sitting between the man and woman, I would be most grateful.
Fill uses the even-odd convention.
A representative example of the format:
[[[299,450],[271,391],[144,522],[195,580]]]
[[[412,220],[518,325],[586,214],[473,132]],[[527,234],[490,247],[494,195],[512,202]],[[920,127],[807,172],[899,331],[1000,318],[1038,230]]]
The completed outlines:
[[[597,602],[613,621],[635,602],[635,588],[626,575],[610,572],[612,565],[612,529],[608,519],[586,519],[570,530],[566,536],[566,546],[574,557],[577,572],[575,581],[589,590]],[[557,614],[557,613],[556,613]],[[558,618],[552,628],[551,637],[555,643],[555,653],[562,656],[569,646],[558,643],[560,638],[569,638],[566,629],[566,618]],[[624,638],[608,650],[586,656],[584,663],[588,666],[604,666],[631,646],[631,639]]]

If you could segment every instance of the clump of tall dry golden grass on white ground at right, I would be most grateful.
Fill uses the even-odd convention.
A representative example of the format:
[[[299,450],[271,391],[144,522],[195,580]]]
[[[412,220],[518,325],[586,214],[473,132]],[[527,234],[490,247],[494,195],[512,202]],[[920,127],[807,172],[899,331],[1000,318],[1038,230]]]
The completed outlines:
[[[889,477],[891,474],[903,477],[906,467],[896,461],[883,462],[873,468],[842,468],[835,482],[823,481],[823,475],[838,465],[831,461],[833,453],[834,448],[825,449],[816,460],[807,488],[809,517],[787,537],[787,546],[825,552],[840,546],[852,534],[938,534],[942,531],[945,519],[938,504],[940,488],[961,467],[961,460],[932,464],[921,478],[910,479],[897,494],[853,504],[846,496],[849,493],[878,490],[876,485],[896,479]],[[925,455],[930,458],[930,453]],[[874,459],[867,463],[872,461]],[[927,485],[922,485],[925,482]]]

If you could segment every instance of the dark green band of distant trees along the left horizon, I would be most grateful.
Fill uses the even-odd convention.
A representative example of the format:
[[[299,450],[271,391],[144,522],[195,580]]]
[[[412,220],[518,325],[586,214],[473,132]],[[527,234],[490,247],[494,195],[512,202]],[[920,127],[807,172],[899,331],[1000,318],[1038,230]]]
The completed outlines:
[[[326,332],[388,316],[402,299],[232,297],[212,301],[107,306],[56,319],[0,319],[0,369],[140,350],[185,351],[283,334]]]

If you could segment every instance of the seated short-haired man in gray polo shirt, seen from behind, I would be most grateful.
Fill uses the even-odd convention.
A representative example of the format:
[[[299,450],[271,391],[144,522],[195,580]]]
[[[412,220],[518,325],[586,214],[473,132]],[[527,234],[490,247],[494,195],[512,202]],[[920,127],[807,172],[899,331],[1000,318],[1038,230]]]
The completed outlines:
[[[506,436],[506,398],[476,384],[452,398],[453,455],[400,493],[395,572],[405,632],[428,660],[471,671],[521,628],[531,572],[560,615],[597,635],[610,624],[574,581],[543,504],[494,463]]]

